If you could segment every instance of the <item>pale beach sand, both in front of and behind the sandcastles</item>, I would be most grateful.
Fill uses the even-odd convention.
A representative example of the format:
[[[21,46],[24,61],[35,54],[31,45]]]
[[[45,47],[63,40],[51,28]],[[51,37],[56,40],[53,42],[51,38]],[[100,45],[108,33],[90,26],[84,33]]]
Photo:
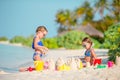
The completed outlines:
[[[44,59],[52,58],[56,60],[58,57],[64,59],[83,57],[83,53],[84,50],[50,50]],[[43,70],[8,73],[0,74],[0,80],[120,80],[120,67],[114,65],[112,68],[104,69],[83,68],[70,71]]]

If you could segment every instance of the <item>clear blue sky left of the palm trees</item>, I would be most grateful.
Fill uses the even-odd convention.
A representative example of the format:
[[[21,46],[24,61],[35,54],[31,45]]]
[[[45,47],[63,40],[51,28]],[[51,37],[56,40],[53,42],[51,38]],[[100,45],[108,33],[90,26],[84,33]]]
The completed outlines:
[[[38,26],[48,29],[47,37],[57,35],[57,11],[74,10],[84,0],[0,0],[0,37],[35,34]]]

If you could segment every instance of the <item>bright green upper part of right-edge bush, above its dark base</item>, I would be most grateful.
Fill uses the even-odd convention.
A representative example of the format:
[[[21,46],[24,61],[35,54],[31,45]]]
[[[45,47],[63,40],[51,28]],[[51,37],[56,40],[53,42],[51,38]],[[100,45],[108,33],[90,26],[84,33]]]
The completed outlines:
[[[118,47],[120,43],[120,24],[112,25],[105,32],[105,41],[103,43],[104,48],[114,49]]]

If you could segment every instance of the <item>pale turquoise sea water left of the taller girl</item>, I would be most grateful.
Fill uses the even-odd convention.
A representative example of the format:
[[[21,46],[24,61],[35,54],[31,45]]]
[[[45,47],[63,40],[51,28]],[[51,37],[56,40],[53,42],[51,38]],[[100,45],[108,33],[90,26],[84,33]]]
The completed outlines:
[[[18,72],[20,67],[33,66],[32,48],[0,44],[0,70]]]

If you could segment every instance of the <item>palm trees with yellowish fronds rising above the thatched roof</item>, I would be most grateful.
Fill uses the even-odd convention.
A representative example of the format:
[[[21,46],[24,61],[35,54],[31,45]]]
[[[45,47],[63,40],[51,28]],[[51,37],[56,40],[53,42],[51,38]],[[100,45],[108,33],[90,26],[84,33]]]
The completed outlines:
[[[77,25],[90,24],[101,32],[120,21],[119,0],[86,0],[84,4],[74,11],[60,10],[56,14],[56,22],[59,24],[58,33],[70,31],[77,28]],[[107,12],[105,15],[104,13]],[[95,20],[96,14],[101,17]],[[98,25],[99,24],[99,25]]]

